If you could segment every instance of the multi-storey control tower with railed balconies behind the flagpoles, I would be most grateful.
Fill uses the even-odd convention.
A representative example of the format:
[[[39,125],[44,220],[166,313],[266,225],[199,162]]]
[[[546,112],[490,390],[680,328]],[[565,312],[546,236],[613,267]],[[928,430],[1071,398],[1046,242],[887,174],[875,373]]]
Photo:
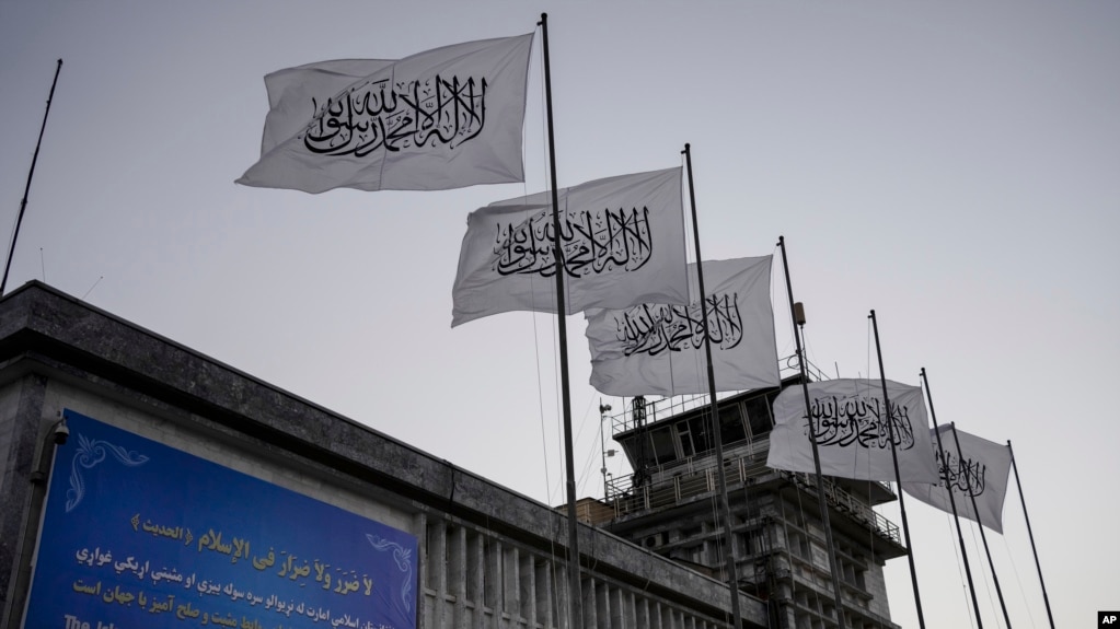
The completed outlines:
[[[782,388],[800,386],[801,376]],[[720,436],[741,590],[767,602],[769,627],[837,627],[834,590],[813,475],[766,467],[771,410],[781,388],[719,401]],[[605,481],[589,522],[644,548],[727,581],[726,535],[707,396],[646,403],[608,417],[631,469]],[[823,478],[847,627],[890,622],[883,566],[904,556],[899,529],[871,507],[896,498],[887,484]]]

